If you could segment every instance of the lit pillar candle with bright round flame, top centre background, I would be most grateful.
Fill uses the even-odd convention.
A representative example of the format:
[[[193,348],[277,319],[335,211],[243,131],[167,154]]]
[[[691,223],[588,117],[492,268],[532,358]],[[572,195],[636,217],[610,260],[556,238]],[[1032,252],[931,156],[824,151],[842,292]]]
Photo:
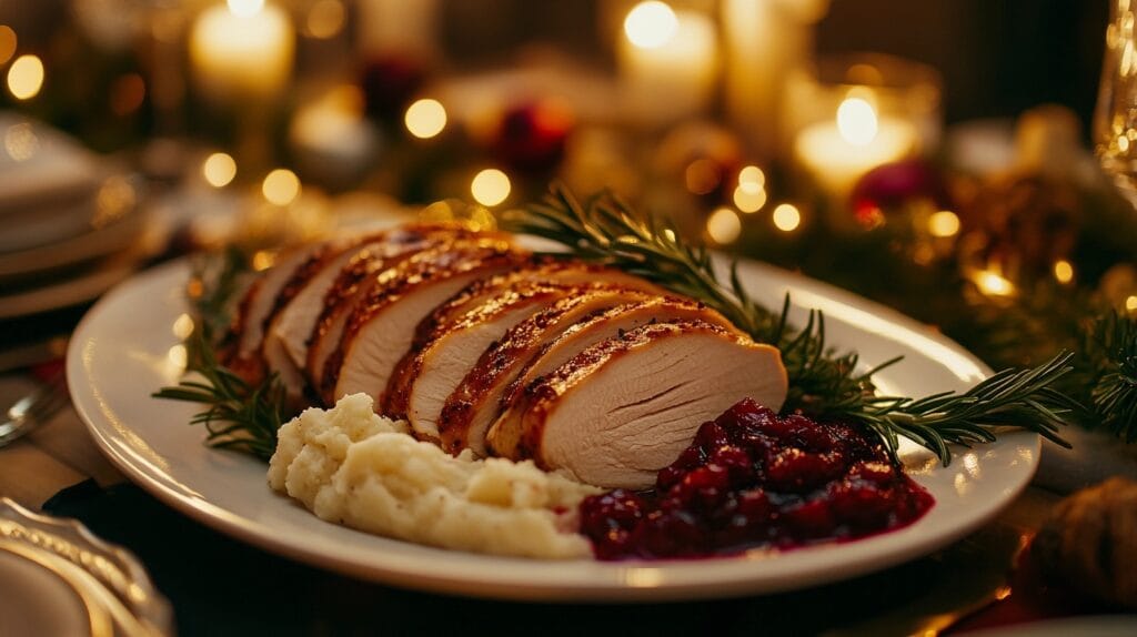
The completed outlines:
[[[719,68],[717,37],[703,14],[673,11],[657,1],[637,5],[619,44],[631,115],[658,126],[706,110]]]

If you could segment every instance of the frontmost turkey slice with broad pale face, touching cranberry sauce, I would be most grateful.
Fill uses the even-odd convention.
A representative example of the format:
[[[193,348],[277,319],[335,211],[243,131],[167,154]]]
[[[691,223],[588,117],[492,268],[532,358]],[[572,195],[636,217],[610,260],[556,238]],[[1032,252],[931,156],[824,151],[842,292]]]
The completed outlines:
[[[587,484],[646,488],[699,425],[744,397],[777,411],[786,391],[774,347],[702,320],[645,325],[526,388],[515,459]]]

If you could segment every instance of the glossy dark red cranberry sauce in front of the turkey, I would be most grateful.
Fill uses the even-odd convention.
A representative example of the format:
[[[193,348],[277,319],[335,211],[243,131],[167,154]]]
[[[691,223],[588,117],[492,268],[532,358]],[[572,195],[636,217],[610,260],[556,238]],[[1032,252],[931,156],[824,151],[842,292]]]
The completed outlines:
[[[906,526],[931,505],[862,428],[779,418],[747,399],[704,422],[654,489],[594,495],[580,512],[596,556],[620,560],[863,537]]]

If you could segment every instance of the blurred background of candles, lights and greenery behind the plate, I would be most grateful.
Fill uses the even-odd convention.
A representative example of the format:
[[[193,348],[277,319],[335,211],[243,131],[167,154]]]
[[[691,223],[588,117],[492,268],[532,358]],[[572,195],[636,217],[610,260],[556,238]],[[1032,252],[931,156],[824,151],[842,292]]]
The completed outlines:
[[[558,182],[1039,362],[1137,312],[1131,37],[1124,0],[8,0],[0,319]]]

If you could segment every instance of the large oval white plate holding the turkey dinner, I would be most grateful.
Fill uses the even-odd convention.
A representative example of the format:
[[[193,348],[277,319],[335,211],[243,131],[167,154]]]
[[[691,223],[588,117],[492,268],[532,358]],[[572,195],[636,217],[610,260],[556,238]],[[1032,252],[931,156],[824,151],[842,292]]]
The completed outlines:
[[[744,280],[780,307],[786,290],[802,307],[824,310],[831,343],[855,347],[865,364],[905,360],[879,375],[890,393],[962,391],[988,375],[976,358],[911,319],[818,282],[757,263]],[[371,536],[324,522],[273,493],[266,467],[210,450],[194,405],[149,397],[175,384],[181,351],[172,326],[185,311],[184,263],[126,282],[103,296],[72,337],[72,397],[102,451],[171,506],[268,551],[396,586],[463,595],[561,601],[658,601],[788,590],[848,578],[924,555],[989,520],[1027,485],[1039,438],[1012,431],[995,444],[960,450],[940,468],[905,449],[914,478],[936,497],[916,523],[852,543],[781,554],[656,563],[572,562],[474,555]]]

